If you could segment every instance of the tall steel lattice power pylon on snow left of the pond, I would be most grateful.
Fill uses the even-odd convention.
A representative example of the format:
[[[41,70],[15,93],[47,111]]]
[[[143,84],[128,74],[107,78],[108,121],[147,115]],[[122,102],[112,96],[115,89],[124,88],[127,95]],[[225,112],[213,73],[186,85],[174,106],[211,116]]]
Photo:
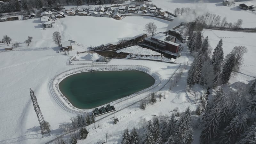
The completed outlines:
[[[44,117],[43,117],[42,112],[40,110],[40,107],[39,107],[39,105],[37,103],[34,91],[32,91],[31,88],[29,88],[29,90],[30,90],[31,100],[33,102],[33,106],[34,106],[34,109],[36,111],[36,115],[37,115],[37,118],[38,118],[38,121],[39,121],[39,124],[40,124],[42,137],[43,137],[44,134],[47,134],[47,133],[50,136],[50,129],[48,127],[48,124],[45,123],[45,121],[44,121]]]

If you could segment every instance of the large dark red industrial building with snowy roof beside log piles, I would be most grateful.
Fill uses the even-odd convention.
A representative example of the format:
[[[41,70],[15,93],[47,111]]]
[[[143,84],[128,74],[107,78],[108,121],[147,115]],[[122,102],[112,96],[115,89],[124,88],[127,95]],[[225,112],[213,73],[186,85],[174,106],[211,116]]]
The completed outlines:
[[[179,51],[179,45],[176,44],[176,37],[169,34],[159,32],[153,36],[144,38],[144,43],[153,46],[163,51],[170,51],[177,53]]]

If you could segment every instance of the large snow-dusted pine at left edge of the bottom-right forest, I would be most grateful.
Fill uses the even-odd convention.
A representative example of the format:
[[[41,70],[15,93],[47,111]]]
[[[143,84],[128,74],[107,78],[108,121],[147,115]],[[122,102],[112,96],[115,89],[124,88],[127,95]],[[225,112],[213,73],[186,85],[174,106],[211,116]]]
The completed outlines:
[[[214,107],[204,118],[203,130],[200,135],[201,143],[210,143],[212,140],[217,138],[219,123],[219,108]]]

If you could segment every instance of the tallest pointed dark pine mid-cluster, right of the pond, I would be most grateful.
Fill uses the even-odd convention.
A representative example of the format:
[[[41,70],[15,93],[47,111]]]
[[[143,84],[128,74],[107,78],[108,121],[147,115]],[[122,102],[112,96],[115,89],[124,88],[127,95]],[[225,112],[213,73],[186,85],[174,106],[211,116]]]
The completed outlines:
[[[213,70],[215,74],[217,72],[220,72],[221,64],[224,60],[224,53],[223,53],[222,46],[223,46],[222,39],[220,39],[219,43],[215,47],[214,52],[212,54],[212,65],[213,65]]]

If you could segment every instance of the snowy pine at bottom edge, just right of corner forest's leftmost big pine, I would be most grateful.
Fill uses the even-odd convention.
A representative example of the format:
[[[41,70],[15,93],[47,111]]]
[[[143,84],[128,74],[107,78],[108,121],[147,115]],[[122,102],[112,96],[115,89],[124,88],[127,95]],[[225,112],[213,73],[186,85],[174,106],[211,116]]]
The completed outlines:
[[[238,116],[236,116],[224,129],[224,135],[220,137],[222,144],[230,144],[236,142],[238,120]]]

